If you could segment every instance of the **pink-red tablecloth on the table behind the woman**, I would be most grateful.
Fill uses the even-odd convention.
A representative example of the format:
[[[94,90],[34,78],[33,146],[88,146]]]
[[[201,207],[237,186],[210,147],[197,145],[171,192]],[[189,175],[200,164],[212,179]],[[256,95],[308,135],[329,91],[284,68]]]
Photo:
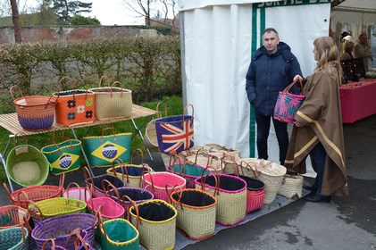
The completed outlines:
[[[353,123],[376,113],[376,79],[350,82],[339,88],[342,121]]]

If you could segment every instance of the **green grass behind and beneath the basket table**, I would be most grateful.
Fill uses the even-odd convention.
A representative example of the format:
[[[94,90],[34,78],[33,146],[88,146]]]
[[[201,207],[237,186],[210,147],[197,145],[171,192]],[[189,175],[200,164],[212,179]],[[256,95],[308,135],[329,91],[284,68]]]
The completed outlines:
[[[163,97],[162,100],[158,100],[155,102],[142,103],[139,105],[155,110],[156,105],[160,102],[166,105],[168,115],[182,114],[183,112],[184,107],[183,107],[182,98],[180,96],[165,96]],[[1,110],[1,107],[0,107],[0,110]],[[164,111],[161,110],[161,112],[164,112]],[[154,117],[146,117],[146,118],[140,118],[140,119],[135,120],[136,125],[138,129],[141,129],[142,134],[145,133],[145,126],[147,122],[151,121],[152,119],[154,119]],[[111,124],[108,124],[108,126],[111,126]],[[115,128],[116,133],[125,133],[125,132],[132,133],[132,150],[135,148],[139,148],[142,150],[144,154],[147,154],[146,147],[143,145],[143,142],[142,142],[142,138],[138,136],[138,132],[134,128],[131,121],[116,122],[113,124],[113,126]],[[79,128],[79,129],[75,129],[74,131],[78,138],[81,138],[85,135],[99,136],[102,134],[101,126],[94,126],[94,127],[91,127],[88,131],[87,130],[88,128]],[[58,133],[60,135],[62,132],[59,131]],[[64,136],[73,138],[73,135],[71,134],[71,130],[69,129],[64,130]],[[40,149],[43,146],[50,145],[52,143],[52,137],[53,137],[52,132],[33,135],[27,138],[18,137],[17,141],[16,140],[11,141],[6,153],[9,153],[10,150],[12,150],[13,146],[22,145],[22,144],[32,145]],[[9,139],[9,131],[4,129],[3,127],[0,127],[0,153],[1,154],[4,154],[4,150],[8,143],[8,139]],[[3,156],[4,156],[4,160],[6,161],[7,154]],[[86,162],[84,161],[84,159],[81,159],[81,166],[85,166],[85,165],[86,165]],[[6,181],[7,180],[6,180],[6,175],[4,172],[4,167],[1,167],[0,168],[0,182],[3,183]]]

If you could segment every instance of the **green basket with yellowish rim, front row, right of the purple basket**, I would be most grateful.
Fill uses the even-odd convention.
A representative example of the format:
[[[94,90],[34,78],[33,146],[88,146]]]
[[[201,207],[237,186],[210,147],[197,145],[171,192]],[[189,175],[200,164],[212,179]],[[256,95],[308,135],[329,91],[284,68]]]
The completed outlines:
[[[104,221],[99,216],[99,243],[102,249],[139,249],[138,230],[125,219]]]

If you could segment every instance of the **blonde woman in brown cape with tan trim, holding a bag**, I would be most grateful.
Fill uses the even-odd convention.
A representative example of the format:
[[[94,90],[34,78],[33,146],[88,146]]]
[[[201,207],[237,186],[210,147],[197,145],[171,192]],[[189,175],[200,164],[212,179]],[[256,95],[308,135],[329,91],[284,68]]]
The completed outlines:
[[[332,195],[348,195],[339,99],[342,71],[331,37],[318,37],[313,46],[317,66],[305,83],[305,101],[295,116],[285,165],[290,172],[305,173],[310,155],[317,176],[306,200],[330,202]]]

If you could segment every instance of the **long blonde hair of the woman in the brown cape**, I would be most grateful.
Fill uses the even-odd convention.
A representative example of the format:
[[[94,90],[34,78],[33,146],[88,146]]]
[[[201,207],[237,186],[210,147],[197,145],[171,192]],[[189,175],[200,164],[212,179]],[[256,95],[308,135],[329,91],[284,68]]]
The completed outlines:
[[[319,60],[314,71],[323,71],[331,78],[338,74],[339,85],[342,80],[342,68],[338,59],[338,47],[334,44],[332,37],[318,37],[313,41],[313,46],[319,54]],[[330,65],[335,65],[337,71],[330,70]]]

